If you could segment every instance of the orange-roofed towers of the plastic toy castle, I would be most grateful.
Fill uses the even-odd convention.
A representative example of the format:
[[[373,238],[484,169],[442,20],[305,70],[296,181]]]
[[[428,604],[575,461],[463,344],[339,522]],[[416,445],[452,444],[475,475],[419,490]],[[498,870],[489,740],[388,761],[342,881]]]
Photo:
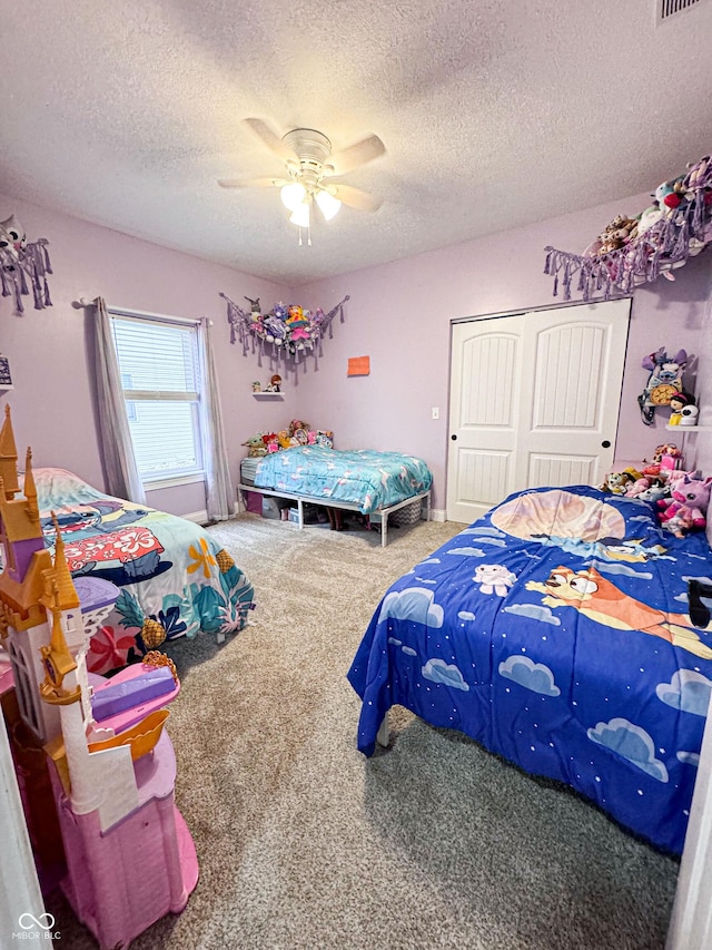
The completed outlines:
[[[31,450],[27,450],[23,497],[17,462],[10,407],[6,405],[0,430],[0,543],[4,562],[0,574],[0,637],[10,655],[20,714],[38,738],[47,742],[59,733],[59,713],[41,702],[39,692],[44,678],[40,647],[50,642],[48,608],[55,606],[47,592],[49,574],[55,576],[56,606],[70,649],[83,647],[85,630],[59,535],[56,565],[44,547]]]

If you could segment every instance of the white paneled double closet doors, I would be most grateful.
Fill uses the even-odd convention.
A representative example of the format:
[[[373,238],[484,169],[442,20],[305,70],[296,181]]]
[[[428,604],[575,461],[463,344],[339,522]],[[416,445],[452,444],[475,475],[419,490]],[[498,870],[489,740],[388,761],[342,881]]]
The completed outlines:
[[[524,488],[602,481],[629,319],[623,300],[453,326],[448,520],[474,521]]]

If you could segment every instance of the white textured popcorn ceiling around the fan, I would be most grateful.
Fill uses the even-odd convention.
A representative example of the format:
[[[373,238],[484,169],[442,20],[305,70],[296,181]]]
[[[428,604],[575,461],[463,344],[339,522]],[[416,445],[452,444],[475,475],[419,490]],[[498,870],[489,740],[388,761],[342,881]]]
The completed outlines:
[[[290,286],[639,194],[712,147],[712,3],[654,2],[0,0],[0,193]],[[378,135],[380,209],[298,247],[246,117]]]

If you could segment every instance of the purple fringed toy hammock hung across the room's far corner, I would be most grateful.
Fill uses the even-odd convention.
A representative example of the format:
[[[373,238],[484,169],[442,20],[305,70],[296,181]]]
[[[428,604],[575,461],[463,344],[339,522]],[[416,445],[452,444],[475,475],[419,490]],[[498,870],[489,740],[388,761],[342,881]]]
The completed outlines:
[[[322,340],[327,330],[329,340],[333,337],[332,321],[336,314],[339,314],[339,322],[344,323],[344,304],[349,300],[346,295],[328,313],[324,313],[322,307],[315,311],[299,308],[298,319],[290,320],[290,308],[284,304],[275,304],[269,313],[261,313],[259,300],[250,301],[254,310],[246,311],[227,294],[220,293],[220,296],[227,304],[230,343],[241,343],[243,356],[247,356],[250,351],[257,353],[259,366],[265,354],[269,359],[271,370],[281,369],[284,362],[286,372],[294,371],[295,382],[298,380],[298,366],[303,362],[306,372],[307,356],[314,356],[314,369],[318,370],[319,356],[323,355]]]

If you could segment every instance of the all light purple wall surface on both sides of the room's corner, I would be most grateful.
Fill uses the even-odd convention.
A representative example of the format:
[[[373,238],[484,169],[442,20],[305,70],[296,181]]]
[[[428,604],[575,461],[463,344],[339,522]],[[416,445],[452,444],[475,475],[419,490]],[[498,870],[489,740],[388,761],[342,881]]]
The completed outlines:
[[[178,316],[210,316],[229,461],[237,482],[241,442],[256,431],[284,428],[294,417],[333,429],[342,448],[376,448],[423,457],[435,476],[434,506],[445,508],[449,322],[458,317],[555,303],[542,273],[547,244],[578,251],[619,213],[634,214],[649,196],[506,232],[491,238],[424,254],[368,271],[322,281],[290,293],[286,287],[209,264],[97,225],[0,197],[0,219],[14,212],[30,239],[47,237],[55,275],[53,307],[23,316],[0,298],[0,352],[9,356],[16,389],[11,403],[20,453],[31,444],[38,466],[76,471],[103,487],[87,371],[85,316],[71,306],[79,296],[101,294],[111,305]],[[377,223],[377,218],[374,218]],[[327,239],[326,235],[324,239]],[[318,247],[310,249],[318,253]],[[709,296],[709,252],[679,272],[634,294],[629,359],[617,440],[619,458],[650,456],[666,440],[664,420],[654,430],[640,421],[635,396],[646,372],[641,359],[660,345],[696,352]],[[266,382],[251,354],[229,344],[224,291],[236,301],[259,296],[330,308],[345,294],[346,321],[335,321],[324,342],[318,372],[309,362],[284,401],[257,401],[251,381]],[[369,355],[366,378],[346,376],[349,356]],[[712,354],[710,354],[712,364]],[[483,386],[483,398],[496,398]],[[438,407],[439,420],[431,418]],[[200,487],[151,492],[149,502],[176,513],[205,509]]]

